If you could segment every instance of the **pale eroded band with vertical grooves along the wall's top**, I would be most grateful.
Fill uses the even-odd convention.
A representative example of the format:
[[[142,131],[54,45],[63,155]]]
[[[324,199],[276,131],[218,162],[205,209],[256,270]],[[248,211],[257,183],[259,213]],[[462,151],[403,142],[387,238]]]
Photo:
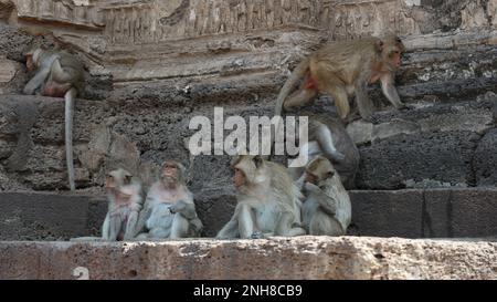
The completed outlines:
[[[334,30],[337,38],[379,34],[385,29],[416,33],[399,0],[182,0],[117,1],[104,6],[107,38],[115,44],[157,43],[186,38],[300,28]],[[135,4],[133,4],[135,3]],[[146,18],[145,18],[146,17]]]

